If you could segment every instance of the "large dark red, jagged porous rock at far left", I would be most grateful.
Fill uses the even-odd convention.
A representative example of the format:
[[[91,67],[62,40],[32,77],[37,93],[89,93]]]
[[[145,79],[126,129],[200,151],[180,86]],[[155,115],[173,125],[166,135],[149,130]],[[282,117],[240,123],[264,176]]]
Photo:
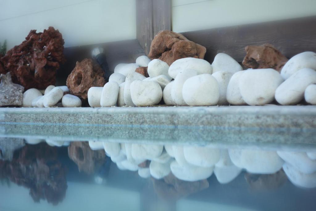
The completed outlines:
[[[13,83],[25,90],[42,90],[55,84],[56,71],[65,62],[62,34],[49,27],[43,33],[31,30],[25,39],[0,59],[5,72],[10,72]]]

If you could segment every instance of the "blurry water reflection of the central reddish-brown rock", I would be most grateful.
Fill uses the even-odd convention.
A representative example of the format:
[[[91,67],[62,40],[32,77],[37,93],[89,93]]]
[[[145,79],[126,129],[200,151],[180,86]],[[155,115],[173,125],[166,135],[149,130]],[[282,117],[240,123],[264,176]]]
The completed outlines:
[[[157,195],[166,200],[179,199],[209,187],[209,182],[206,179],[187,182],[179,180],[172,173],[164,177],[163,180],[152,178],[152,181]]]

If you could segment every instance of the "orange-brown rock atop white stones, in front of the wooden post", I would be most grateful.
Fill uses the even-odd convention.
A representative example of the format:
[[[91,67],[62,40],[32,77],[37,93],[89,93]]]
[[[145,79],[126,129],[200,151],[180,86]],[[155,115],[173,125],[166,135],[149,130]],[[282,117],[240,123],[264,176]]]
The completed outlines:
[[[150,45],[150,59],[160,59],[169,66],[177,59],[194,57],[204,59],[206,48],[169,30],[158,32]]]

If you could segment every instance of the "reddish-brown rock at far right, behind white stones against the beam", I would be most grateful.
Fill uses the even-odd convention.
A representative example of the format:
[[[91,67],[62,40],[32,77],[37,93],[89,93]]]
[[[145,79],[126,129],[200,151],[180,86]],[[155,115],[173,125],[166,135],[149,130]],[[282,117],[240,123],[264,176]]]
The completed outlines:
[[[281,71],[288,59],[271,44],[261,46],[246,46],[246,56],[242,64],[247,68],[272,68]]]

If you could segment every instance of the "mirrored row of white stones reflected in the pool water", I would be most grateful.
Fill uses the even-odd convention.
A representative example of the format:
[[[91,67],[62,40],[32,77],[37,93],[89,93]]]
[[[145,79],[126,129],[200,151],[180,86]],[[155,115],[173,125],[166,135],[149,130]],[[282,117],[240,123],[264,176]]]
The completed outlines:
[[[29,144],[43,140],[26,139]],[[50,146],[69,141],[46,140]],[[213,173],[219,183],[233,181],[241,171],[274,174],[283,168],[289,180],[304,188],[316,187],[316,151],[287,152],[258,149],[225,149],[212,146],[154,145],[89,141],[92,150],[104,149],[120,170],[138,171],[140,177],[161,179],[170,172],[184,181],[207,179]],[[139,165],[143,162],[147,166]],[[148,165],[149,163],[149,165]]]

